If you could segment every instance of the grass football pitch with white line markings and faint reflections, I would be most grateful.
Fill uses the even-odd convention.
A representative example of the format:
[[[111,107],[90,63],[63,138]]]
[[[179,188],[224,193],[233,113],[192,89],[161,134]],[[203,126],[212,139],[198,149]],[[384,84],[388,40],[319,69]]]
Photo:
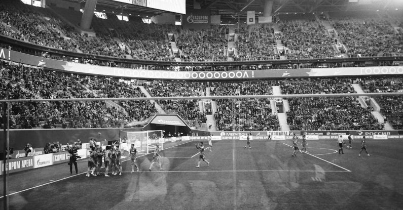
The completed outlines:
[[[367,141],[371,156],[363,152],[361,157],[358,141],[353,149],[344,147],[345,154],[340,155],[336,141],[308,141],[310,153],[298,153],[297,157],[291,156],[291,141],[252,141],[251,149],[244,148],[246,141],[213,141],[212,152],[206,150],[210,166],[201,162],[200,168],[195,167],[199,157],[195,143],[164,144],[167,149],[161,151],[162,171],[157,163],[152,172],[148,171],[152,158],[149,154],[138,157],[138,173],[130,173],[130,161],[124,161],[122,176],[70,177],[67,164],[11,174],[9,193],[15,194],[9,196],[10,209],[401,209],[403,206],[401,140]],[[79,172],[86,170],[86,164],[86,160],[79,161]],[[3,183],[0,187],[3,189]],[[30,187],[34,188],[19,192]],[[2,207],[3,199],[0,198]]]

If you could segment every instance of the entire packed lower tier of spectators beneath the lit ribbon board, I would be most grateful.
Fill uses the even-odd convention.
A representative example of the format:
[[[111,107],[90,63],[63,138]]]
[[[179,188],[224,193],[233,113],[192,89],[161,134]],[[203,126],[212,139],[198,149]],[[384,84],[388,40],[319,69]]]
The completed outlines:
[[[323,98],[284,99],[289,104],[287,122],[291,130],[382,129],[384,125],[371,113],[373,106],[363,108],[355,98],[328,98],[326,94],[355,93],[353,84],[367,93],[403,91],[402,78],[398,76],[135,83],[140,82],[155,97],[272,95],[273,86],[278,86],[282,94],[323,94]],[[1,99],[146,97],[141,86],[133,85],[130,80],[54,72],[5,61],[0,62],[0,85]],[[374,99],[386,121],[395,129],[401,128],[402,97]],[[218,130],[281,130],[269,99],[215,102],[214,118]],[[161,100],[157,103],[167,113],[177,113],[189,120],[190,125],[200,127],[206,123],[206,113],[199,100]],[[109,128],[146,120],[157,110],[150,101],[80,101],[11,103],[10,112],[12,129]]]

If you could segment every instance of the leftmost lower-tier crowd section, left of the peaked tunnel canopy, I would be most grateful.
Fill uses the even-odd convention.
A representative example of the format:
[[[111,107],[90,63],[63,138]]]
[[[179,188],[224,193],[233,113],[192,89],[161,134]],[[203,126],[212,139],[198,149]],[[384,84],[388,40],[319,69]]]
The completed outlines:
[[[57,73],[6,62],[1,62],[0,69],[3,99],[144,97],[138,88],[106,77]],[[128,120],[144,120],[156,112],[149,101],[122,101],[118,102],[120,107],[106,102],[15,102],[11,106],[11,128],[122,127]]]

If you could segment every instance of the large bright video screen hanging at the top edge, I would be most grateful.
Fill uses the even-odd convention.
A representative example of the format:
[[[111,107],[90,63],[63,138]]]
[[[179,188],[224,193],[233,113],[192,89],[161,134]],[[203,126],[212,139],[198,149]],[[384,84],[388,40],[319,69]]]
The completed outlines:
[[[186,14],[186,0],[113,0],[126,4]]]

